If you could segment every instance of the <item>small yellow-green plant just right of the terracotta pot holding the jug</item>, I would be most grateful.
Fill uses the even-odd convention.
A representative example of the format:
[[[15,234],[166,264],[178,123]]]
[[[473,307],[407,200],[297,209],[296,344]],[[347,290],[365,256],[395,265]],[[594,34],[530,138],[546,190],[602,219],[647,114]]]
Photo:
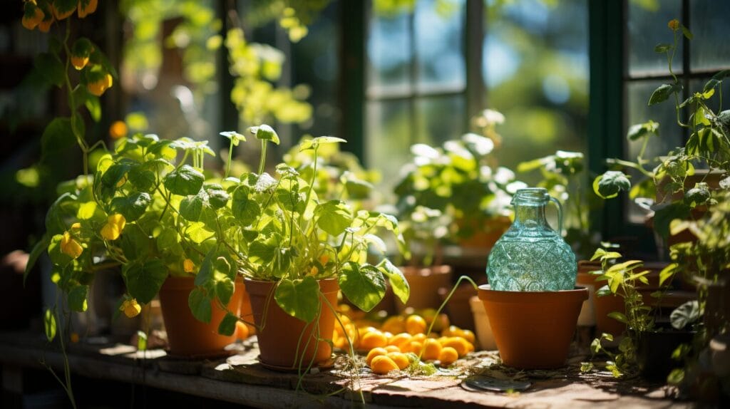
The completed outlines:
[[[637,344],[642,334],[654,329],[654,309],[648,305],[641,292],[640,284],[649,284],[648,274],[650,270],[643,269],[644,263],[640,260],[628,260],[616,262],[621,258],[621,253],[610,251],[610,249],[599,248],[591,257],[591,261],[600,260],[601,270],[593,271],[598,276],[596,281],[606,281],[606,284],[596,290],[599,297],[618,295],[623,298],[624,311],[612,311],[608,314],[612,319],[626,324],[626,331],[618,345],[618,352],[610,351],[602,345],[603,340],[612,341],[613,335],[603,333],[591,343],[593,354],[603,352],[609,357],[606,362],[607,369],[618,378],[625,374],[636,373],[637,370]],[[675,266],[669,265],[659,274],[660,290],[653,292],[652,297],[661,298],[664,290],[668,287],[674,276]]]

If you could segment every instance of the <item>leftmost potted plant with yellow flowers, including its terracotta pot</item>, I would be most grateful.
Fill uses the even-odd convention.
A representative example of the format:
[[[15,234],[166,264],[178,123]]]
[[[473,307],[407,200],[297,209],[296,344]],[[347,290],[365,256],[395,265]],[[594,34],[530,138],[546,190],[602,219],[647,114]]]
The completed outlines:
[[[175,164],[178,153],[183,159]],[[61,184],[61,195],[47,213],[45,246],[53,263],[52,279],[72,310],[86,309],[96,270],[118,266],[127,290],[120,311],[126,316],[136,316],[142,305],[161,294],[172,354],[220,354],[234,340],[216,332],[224,311],[210,303],[207,313],[196,314],[202,322],[185,321],[192,319],[185,308],[192,273],[201,263],[201,250],[212,246],[205,222],[191,217],[191,198],[225,193],[220,185],[204,181],[207,154],[212,155],[207,142],[137,135],[101,156],[93,176]],[[228,271],[219,280],[226,291],[215,297],[232,311],[238,311],[243,292],[235,280],[236,271]],[[204,325],[212,319],[212,326]],[[175,325],[180,320],[182,327]]]

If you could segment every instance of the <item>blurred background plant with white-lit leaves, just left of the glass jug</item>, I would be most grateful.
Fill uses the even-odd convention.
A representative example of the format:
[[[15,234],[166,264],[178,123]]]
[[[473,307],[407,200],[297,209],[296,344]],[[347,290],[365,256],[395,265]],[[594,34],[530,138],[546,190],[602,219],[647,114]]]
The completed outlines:
[[[497,167],[491,157],[497,137],[493,132],[494,114],[489,116],[493,122],[483,127],[488,136],[466,133],[442,147],[411,147],[412,161],[404,165],[404,176],[394,188],[396,209],[399,219],[407,221],[404,227],[412,230],[404,230],[411,241],[410,249],[414,253],[418,249],[431,252],[423,260],[416,257],[412,262],[436,260],[433,252],[437,246],[433,244],[502,231],[509,222],[510,192],[524,184],[515,182],[514,172]],[[429,224],[436,221],[447,230]]]

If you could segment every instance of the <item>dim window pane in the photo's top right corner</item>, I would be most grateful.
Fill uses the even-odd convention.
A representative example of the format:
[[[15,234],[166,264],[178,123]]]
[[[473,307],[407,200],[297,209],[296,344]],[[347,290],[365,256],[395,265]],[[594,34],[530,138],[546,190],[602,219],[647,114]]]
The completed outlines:
[[[726,69],[730,66],[730,1],[690,2],[692,69]]]

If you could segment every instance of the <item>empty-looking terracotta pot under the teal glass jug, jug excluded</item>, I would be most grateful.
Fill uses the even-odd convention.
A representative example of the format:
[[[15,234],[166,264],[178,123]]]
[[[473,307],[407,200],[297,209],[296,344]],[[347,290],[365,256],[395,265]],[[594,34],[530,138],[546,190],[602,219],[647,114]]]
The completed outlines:
[[[479,287],[504,365],[520,369],[565,364],[580,306],[588,289],[543,292],[496,291]]]

